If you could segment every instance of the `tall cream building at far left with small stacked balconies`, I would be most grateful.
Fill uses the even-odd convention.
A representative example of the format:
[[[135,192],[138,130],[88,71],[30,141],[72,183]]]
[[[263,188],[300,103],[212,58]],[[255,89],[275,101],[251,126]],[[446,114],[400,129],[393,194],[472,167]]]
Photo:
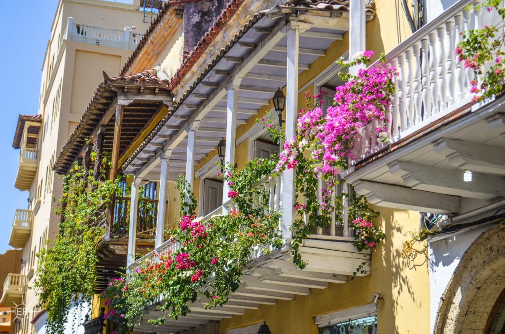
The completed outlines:
[[[23,250],[21,272],[10,274],[12,280],[2,298],[12,306],[26,306],[16,324],[19,334],[44,331],[44,316],[37,315],[43,310],[36,291],[28,288],[33,286],[36,254],[58,229],[53,197],[60,198],[62,188],[53,172],[55,159],[103,80],[103,71],[120,71],[156,17],[157,9],[146,7],[141,7],[140,0],[58,3],[42,64],[39,107],[32,110],[34,115],[19,116],[13,141],[20,150],[15,186],[28,191],[29,204],[12,212],[9,243]],[[38,319],[36,328],[31,323],[34,318]]]

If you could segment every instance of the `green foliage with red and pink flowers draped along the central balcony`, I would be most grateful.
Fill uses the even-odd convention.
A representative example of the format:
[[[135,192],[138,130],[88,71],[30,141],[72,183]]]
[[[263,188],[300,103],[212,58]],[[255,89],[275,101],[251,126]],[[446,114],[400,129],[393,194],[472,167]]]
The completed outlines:
[[[235,189],[244,189],[234,198],[239,209],[206,221],[196,218],[196,200],[186,181],[179,178],[182,218],[179,228],[169,233],[179,248],[153,252],[151,259],[110,282],[103,292],[109,306],[106,317],[116,322],[116,332],[129,332],[149,305],[169,310],[166,316],[170,318],[187,314],[188,304],[196,300],[206,308],[224,305],[229,293],[238,289],[242,268],[251,255],[266,254],[281,246],[276,233],[280,214],[266,213],[268,201],[261,192],[245,190],[274,167],[272,162],[255,160],[241,171],[228,171],[224,178]],[[163,303],[159,302],[161,297]],[[165,317],[149,321],[159,324]]]

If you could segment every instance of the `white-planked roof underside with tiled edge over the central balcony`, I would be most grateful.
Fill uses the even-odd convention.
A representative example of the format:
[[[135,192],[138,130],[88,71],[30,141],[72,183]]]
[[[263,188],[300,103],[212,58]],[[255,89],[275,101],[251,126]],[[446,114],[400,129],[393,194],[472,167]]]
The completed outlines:
[[[309,69],[318,57],[325,54],[330,44],[341,39],[348,30],[348,14],[344,10],[336,13],[305,8],[305,14],[299,15],[294,15],[293,10],[290,7],[276,7],[270,12],[276,15],[267,15],[266,11],[252,15],[231,37],[231,41],[209,60],[207,67],[196,74],[195,81],[187,90],[182,91],[181,88],[185,86],[179,88],[181,92],[169,117],[163,119],[125,161],[122,171],[134,174],[144,165],[159,163],[163,149],[177,146],[186,136],[185,129],[195,120],[200,121],[200,127],[206,130],[219,124],[219,120],[226,124],[226,87],[237,76],[243,78],[238,94],[238,120],[254,117],[259,107],[268,105],[277,87],[284,86],[286,80],[286,62],[278,61],[279,53],[285,54],[286,50],[284,15],[289,16],[290,20],[311,22],[307,35],[311,35],[310,48],[314,48],[314,51],[310,50],[308,44],[303,45],[306,43],[304,38],[308,37],[300,37],[299,72]],[[373,11],[369,9],[367,19],[372,18]],[[321,19],[321,24],[318,19]],[[328,22],[334,23],[334,27]],[[206,122],[207,118],[209,122]],[[240,126],[243,121],[237,122],[237,125]],[[170,137],[164,147],[149,145],[150,141],[159,142],[161,136]],[[216,139],[217,144],[219,138]],[[212,149],[209,147],[206,153]],[[138,160],[137,157],[142,159]],[[145,161],[146,157],[148,161]]]

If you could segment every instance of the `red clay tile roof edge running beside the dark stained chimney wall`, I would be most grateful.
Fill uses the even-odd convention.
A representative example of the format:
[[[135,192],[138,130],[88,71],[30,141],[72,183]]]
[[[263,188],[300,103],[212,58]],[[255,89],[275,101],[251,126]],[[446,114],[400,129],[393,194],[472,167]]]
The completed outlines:
[[[225,9],[223,9],[221,15],[218,16],[218,18],[214,21],[214,24],[209,28],[205,35],[200,38],[198,43],[196,43],[191,53],[185,57],[181,67],[170,80],[169,89],[174,89],[174,87],[180,83],[182,78],[184,78],[184,76],[189,72],[189,69],[193,67],[196,61],[200,58],[200,55],[203,54],[203,51],[214,40],[214,37],[216,37],[216,35],[221,31],[224,24],[236,13],[237,9],[242,4],[242,1],[243,0],[229,0],[228,5]]]

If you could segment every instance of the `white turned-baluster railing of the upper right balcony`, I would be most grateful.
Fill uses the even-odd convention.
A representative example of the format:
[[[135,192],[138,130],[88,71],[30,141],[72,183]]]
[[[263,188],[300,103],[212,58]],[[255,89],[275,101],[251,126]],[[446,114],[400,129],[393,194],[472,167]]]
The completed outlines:
[[[459,62],[455,48],[462,32],[481,28],[482,11],[468,6],[479,3],[458,2],[386,54],[386,63],[398,71],[387,115],[391,143],[471,102],[473,71]],[[384,147],[374,135],[376,127],[361,130],[351,165]]]

